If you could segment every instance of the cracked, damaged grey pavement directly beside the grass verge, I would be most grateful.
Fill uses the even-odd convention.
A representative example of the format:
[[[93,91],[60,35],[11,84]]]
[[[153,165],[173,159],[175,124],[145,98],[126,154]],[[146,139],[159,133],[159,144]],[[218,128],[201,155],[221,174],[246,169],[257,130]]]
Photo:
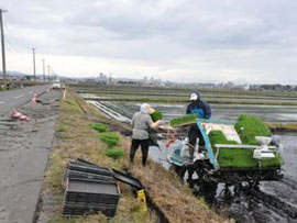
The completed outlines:
[[[18,110],[30,122],[0,120],[0,222],[33,221],[48,148],[54,136],[59,91],[38,98],[42,103],[28,103]]]

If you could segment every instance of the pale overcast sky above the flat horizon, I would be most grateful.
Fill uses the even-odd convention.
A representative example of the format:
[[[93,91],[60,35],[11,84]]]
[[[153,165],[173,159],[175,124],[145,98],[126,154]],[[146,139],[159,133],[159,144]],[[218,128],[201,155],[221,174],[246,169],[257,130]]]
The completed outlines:
[[[8,70],[297,83],[296,0],[1,0]]]

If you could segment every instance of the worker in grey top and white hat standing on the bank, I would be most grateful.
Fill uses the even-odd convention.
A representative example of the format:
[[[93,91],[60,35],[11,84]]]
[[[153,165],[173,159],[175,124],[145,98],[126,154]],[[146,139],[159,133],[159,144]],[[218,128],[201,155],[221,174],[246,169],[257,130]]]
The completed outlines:
[[[163,122],[158,120],[153,122],[150,114],[152,114],[154,110],[151,108],[148,103],[143,103],[140,107],[140,111],[136,112],[132,118],[132,144],[130,149],[130,161],[133,163],[135,152],[139,146],[141,146],[142,150],[142,165],[146,165],[148,146],[150,146],[150,135],[148,130],[157,129]]]

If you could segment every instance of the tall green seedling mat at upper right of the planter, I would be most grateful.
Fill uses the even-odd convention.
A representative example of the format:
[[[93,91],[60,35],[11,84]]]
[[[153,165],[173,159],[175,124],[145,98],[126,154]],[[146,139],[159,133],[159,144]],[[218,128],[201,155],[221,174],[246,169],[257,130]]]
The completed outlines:
[[[242,143],[257,145],[255,136],[271,136],[272,132],[264,121],[249,114],[241,114],[235,124],[235,130]]]

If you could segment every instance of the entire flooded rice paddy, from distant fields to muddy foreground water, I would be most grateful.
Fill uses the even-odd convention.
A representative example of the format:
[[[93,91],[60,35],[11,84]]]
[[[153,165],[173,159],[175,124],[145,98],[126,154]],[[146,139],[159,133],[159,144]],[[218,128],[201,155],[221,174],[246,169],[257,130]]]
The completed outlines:
[[[128,122],[143,102],[162,111],[163,119],[184,115],[188,97],[193,89],[143,88],[121,86],[72,86],[87,101],[96,102],[97,108],[114,119]],[[293,132],[274,132],[284,146],[284,179],[275,182],[261,182],[258,191],[235,194],[232,188],[222,192],[223,186],[208,191],[206,200],[210,205],[227,209],[237,222],[297,222],[296,158],[297,158],[297,94],[274,91],[239,91],[199,89],[201,98],[208,101],[213,119],[235,121],[242,113],[258,116],[277,126],[290,126]],[[282,130],[282,129],[279,129]],[[166,156],[173,148],[161,146],[150,149],[150,156],[165,168]],[[199,193],[200,194],[200,193]],[[211,198],[207,197],[211,194]]]

